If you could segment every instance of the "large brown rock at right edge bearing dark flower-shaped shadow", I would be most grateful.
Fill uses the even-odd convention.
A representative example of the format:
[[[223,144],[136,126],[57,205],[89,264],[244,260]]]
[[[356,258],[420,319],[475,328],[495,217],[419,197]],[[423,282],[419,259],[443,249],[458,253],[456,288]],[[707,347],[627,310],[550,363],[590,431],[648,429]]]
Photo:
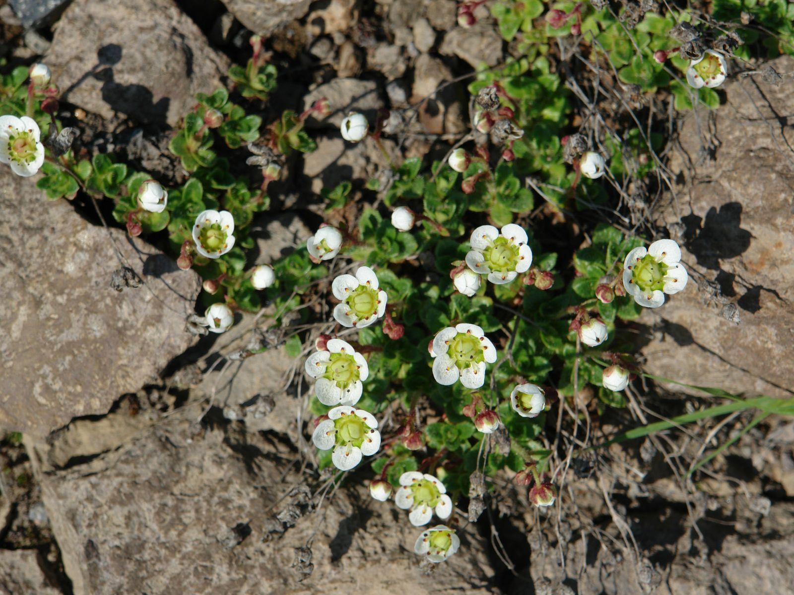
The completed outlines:
[[[772,64],[788,72],[794,59]],[[790,397],[794,369],[774,363],[794,359],[794,155],[792,135],[782,129],[784,138],[774,114],[792,113],[794,98],[783,86],[764,86],[761,94],[746,79],[725,91],[719,137],[703,138],[692,114],[681,129],[683,151],[671,159],[673,174],[689,183],[663,205],[657,223],[679,232],[673,239],[691,272],[684,291],[643,312],[640,320],[653,329],[645,367],[688,384]],[[702,140],[719,142],[715,159]],[[740,324],[720,316],[727,304],[738,306]]]

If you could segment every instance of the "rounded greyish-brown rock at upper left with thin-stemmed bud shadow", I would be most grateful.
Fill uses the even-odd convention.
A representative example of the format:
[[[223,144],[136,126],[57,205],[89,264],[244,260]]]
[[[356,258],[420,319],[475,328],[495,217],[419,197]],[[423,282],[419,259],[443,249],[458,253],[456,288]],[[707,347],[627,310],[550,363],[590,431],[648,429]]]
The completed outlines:
[[[44,61],[64,100],[170,126],[229,67],[173,0],[75,0]]]

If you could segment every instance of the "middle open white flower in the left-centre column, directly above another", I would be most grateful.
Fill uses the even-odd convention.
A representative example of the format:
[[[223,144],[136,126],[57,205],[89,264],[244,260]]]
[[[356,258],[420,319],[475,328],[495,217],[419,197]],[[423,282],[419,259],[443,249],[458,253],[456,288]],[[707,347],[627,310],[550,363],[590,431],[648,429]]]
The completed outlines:
[[[326,343],[306,359],[306,374],[316,378],[314,394],[323,405],[356,405],[369,376],[367,360],[341,339]]]

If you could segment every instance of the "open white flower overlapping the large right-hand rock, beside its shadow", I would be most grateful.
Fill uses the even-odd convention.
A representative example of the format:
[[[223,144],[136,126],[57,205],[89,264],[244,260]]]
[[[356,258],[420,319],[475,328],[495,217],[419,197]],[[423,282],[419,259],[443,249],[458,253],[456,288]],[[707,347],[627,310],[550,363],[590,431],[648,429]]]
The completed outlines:
[[[689,275],[680,263],[681,249],[673,240],[657,240],[648,249],[634,248],[623,262],[623,286],[646,308],[665,303],[665,294],[677,294]]]

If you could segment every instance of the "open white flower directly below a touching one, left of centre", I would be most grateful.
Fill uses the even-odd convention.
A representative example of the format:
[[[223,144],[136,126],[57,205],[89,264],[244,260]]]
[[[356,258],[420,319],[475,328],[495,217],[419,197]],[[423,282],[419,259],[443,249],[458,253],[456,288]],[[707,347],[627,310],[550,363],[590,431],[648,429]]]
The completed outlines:
[[[314,428],[311,441],[321,451],[333,448],[331,460],[347,471],[361,462],[361,455],[374,455],[380,448],[378,422],[372,413],[342,405],[328,412],[328,419]]]

